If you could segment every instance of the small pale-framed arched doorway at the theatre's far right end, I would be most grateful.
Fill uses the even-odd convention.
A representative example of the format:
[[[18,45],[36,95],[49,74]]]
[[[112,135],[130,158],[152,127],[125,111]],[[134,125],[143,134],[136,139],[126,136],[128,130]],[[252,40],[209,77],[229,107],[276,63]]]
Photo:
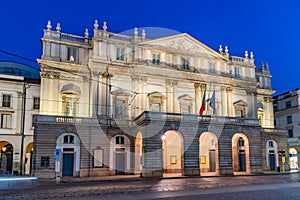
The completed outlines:
[[[276,171],[278,164],[278,154],[277,154],[277,142],[274,140],[268,140],[266,143],[266,159],[267,166],[270,171]]]

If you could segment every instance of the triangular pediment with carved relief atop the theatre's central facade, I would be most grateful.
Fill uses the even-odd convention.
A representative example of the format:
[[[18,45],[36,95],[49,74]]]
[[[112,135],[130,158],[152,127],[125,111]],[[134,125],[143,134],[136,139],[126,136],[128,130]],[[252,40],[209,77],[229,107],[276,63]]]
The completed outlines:
[[[187,33],[148,40],[142,42],[141,44],[150,46],[154,49],[167,50],[169,52],[194,54],[203,57],[227,60],[226,57],[209,48]]]

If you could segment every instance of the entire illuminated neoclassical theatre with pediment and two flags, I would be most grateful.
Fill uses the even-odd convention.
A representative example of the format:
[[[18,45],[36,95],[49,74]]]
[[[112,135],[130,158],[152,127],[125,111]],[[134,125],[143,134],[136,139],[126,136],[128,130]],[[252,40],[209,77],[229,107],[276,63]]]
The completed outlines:
[[[95,21],[92,37],[77,36],[48,22],[36,176],[232,175],[280,165],[286,133],[274,129],[271,76],[252,52],[217,52],[186,33],[131,34]]]

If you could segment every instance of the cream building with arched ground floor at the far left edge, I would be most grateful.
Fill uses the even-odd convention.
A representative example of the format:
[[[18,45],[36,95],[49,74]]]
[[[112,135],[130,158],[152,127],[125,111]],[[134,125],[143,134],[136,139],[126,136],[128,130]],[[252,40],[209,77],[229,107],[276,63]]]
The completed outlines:
[[[40,73],[0,61],[0,174],[31,174],[32,116],[39,113]]]

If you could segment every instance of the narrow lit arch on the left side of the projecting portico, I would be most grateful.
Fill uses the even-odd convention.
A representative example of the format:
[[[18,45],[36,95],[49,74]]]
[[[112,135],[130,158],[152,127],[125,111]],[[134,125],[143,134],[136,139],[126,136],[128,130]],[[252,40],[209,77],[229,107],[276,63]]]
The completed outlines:
[[[143,136],[139,132],[135,138],[135,173],[139,174],[142,171],[143,163]]]

